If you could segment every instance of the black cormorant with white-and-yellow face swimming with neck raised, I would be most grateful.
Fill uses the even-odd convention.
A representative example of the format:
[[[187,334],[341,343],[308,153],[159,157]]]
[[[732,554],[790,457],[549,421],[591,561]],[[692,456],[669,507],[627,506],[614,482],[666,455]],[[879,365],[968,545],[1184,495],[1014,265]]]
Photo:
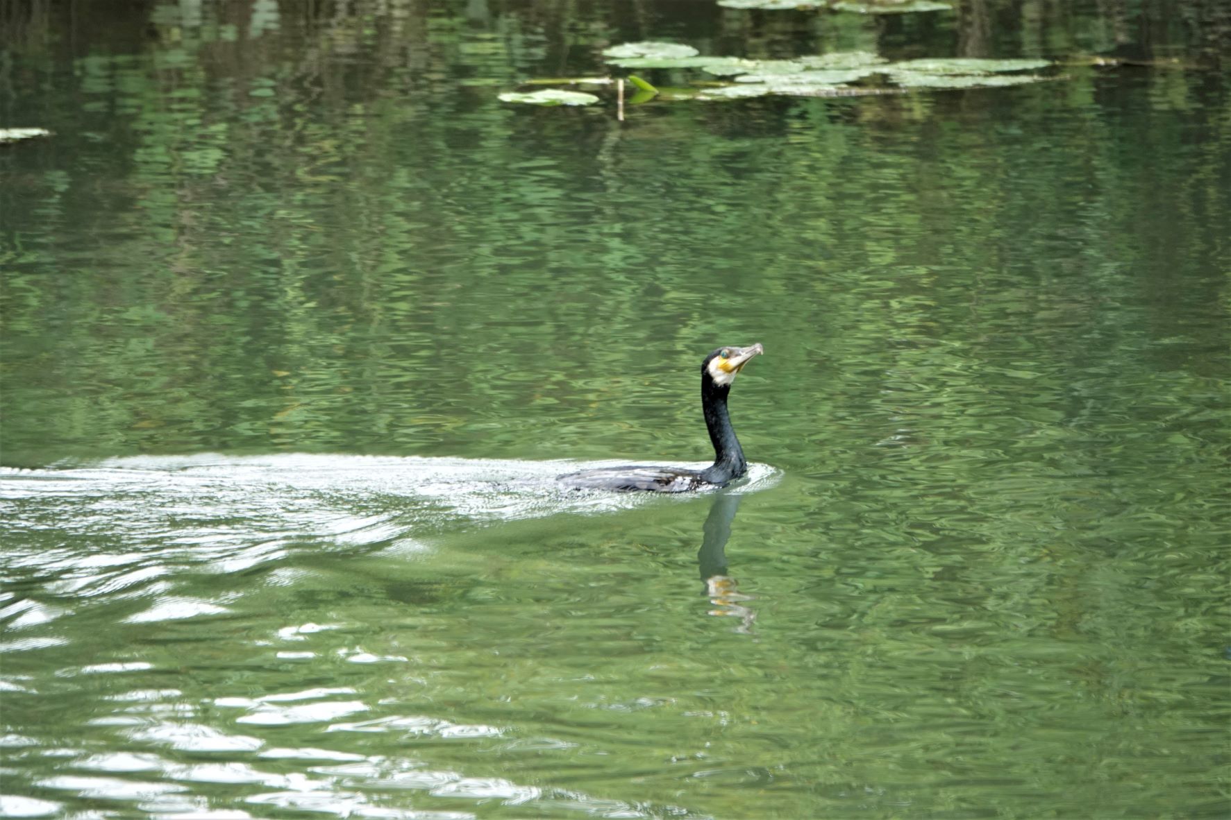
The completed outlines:
[[[630,465],[582,470],[560,476],[565,487],[574,489],[644,489],[655,493],[691,493],[709,487],[723,487],[748,471],[740,440],[726,413],[726,396],[731,382],[748,360],[764,353],[761,344],[746,348],[726,345],[718,348],[700,363],[700,407],[705,414],[705,428],[714,445],[714,463],[704,470],[686,467],[654,467]]]

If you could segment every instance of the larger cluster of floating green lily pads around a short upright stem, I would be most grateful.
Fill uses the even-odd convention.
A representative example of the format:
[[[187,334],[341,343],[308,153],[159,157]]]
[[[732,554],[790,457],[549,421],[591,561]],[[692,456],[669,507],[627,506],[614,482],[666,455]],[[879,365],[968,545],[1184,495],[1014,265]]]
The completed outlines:
[[[890,63],[870,52],[833,52],[789,60],[751,60],[739,57],[705,57],[680,43],[623,43],[603,52],[607,61],[624,69],[688,69],[715,77],[692,87],[655,89],[630,77],[639,93],[630,104],[660,96],[664,100],[744,100],[766,95],[848,97],[905,93],[915,89],[995,89],[1038,82],[1046,77],[1028,74],[1053,65],[1037,59],[928,58]],[[721,77],[721,80],[718,80]],[[870,84],[852,85],[868,77]],[[661,92],[661,93],[660,93]],[[503,93],[506,102],[534,104],[592,104],[598,98],[577,91],[547,89],[533,93]]]

